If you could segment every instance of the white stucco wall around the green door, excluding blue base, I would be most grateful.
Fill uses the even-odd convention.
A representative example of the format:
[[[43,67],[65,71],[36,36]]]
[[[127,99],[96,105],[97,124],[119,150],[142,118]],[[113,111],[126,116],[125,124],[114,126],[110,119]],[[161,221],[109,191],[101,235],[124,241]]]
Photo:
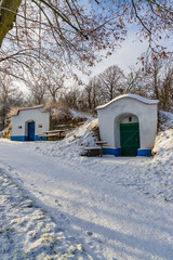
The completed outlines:
[[[111,147],[120,147],[120,123],[127,122],[132,116],[132,122],[139,123],[139,142],[142,150],[154,146],[157,133],[157,103],[144,103],[132,98],[118,99],[107,106],[98,107],[101,139]]]

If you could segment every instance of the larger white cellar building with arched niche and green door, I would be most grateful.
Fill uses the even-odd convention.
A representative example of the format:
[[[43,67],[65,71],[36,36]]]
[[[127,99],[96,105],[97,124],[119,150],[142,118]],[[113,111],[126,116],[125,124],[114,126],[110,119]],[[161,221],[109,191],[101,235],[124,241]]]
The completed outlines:
[[[158,102],[136,94],[123,94],[98,106],[104,153],[116,156],[150,156],[158,125]]]

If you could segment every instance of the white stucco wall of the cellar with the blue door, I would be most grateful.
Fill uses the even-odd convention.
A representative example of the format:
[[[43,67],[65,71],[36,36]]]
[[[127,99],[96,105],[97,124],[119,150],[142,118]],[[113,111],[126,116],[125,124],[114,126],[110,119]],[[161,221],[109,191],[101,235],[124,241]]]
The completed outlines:
[[[35,121],[35,135],[42,134],[50,128],[50,113],[42,112],[42,108],[19,110],[17,116],[12,117],[12,136],[27,136],[28,122],[31,121]]]

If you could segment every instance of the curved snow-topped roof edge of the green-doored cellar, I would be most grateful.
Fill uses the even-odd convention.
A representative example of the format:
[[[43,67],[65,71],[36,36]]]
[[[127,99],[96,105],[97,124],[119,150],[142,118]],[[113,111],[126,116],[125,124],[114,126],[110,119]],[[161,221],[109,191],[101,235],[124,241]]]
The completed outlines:
[[[118,100],[121,100],[121,99],[133,99],[133,100],[137,100],[137,101],[143,102],[143,103],[148,104],[148,105],[154,105],[154,104],[159,103],[158,100],[148,100],[148,99],[143,98],[143,96],[137,95],[137,94],[123,94],[123,95],[119,95],[119,96],[115,98],[114,100],[106,103],[105,105],[97,106],[96,109],[103,109],[103,108],[109,106],[110,104],[112,104],[114,102],[116,102]]]

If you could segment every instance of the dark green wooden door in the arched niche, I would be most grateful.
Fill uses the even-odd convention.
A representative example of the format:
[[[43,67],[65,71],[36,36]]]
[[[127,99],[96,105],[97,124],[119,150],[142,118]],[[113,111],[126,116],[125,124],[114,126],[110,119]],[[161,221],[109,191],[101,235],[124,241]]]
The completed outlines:
[[[138,122],[120,125],[120,144],[122,155],[137,155],[137,148],[139,148]]]

